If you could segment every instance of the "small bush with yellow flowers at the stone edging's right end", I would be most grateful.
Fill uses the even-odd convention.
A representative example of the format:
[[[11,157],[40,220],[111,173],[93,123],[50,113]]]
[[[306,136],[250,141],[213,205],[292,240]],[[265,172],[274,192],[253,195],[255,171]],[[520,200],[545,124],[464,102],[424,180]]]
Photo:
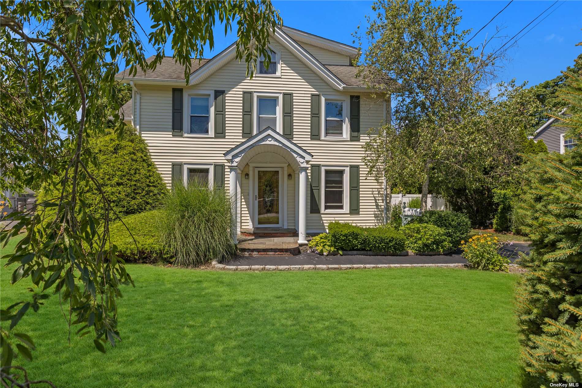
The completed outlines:
[[[461,241],[463,258],[471,267],[486,271],[508,271],[509,259],[499,255],[502,244],[491,234],[480,234]]]

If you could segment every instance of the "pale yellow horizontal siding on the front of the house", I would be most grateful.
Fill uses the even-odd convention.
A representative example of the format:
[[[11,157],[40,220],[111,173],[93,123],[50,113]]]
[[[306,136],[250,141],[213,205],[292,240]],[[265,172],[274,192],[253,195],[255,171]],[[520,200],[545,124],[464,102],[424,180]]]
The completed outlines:
[[[383,101],[371,100],[368,95],[360,93],[360,142],[349,140],[311,140],[310,139],[310,95],[311,93],[338,94],[319,76],[278,43],[272,43],[282,54],[281,77],[246,78],[246,65],[232,61],[222,69],[195,87],[184,89],[184,93],[193,90],[226,90],[226,137],[176,137],[172,136],[172,99],[171,86],[154,86],[138,84],[140,104],[140,131],[148,146],[154,163],[169,185],[171,182],[171,163],[223,163],[225,164],[225,185],[229,188],[228,161],[223,153],[243,142],[242,137],[242,92],[276,91],[293,93],[293,142],[311,154],[311,163],[324,165],[360,165],[360,214],[307,214],[307,231],[324,230],[332,220],[350,221],[360,225],[372,225],[380,222],[382,210],[381,182],[365,177],[366,170],[361,161],[362,145],[367,139],[368,128],[378,126],[384,118]],[[350,93],[344,93],[348,96]],[[352,92],[354,94],[354,92]],[[244,167],[241,177],[241,211],[240,225],[249,226],[247,202],[249,201],[249,179],[244,174],[249,166]],[[288,181],[288,224],[295,224],[294,184],[295,175],[288,166],[288,173],[293,175]],[[286,177],[283,177],[287,179]],[[307,202],[309,202],[307,192]],[[307,203],[309,209],[309,203]]]

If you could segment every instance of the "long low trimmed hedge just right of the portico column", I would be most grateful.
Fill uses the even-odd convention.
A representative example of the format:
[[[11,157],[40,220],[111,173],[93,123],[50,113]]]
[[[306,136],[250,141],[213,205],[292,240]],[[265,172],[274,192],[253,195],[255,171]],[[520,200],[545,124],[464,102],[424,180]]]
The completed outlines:
[[[342,251],[404,251],[404,235],[390,227],[363,228],[333,221],[329,223],[328,230],[331,245]]]

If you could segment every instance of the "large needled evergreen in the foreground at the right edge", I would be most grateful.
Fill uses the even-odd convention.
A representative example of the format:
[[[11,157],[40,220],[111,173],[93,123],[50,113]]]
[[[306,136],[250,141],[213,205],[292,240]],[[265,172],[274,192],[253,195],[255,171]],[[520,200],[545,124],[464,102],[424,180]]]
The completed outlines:
[[[517,201],[531,239],[517,292],[522,361],[534,379],[529,386],[580,382],[582,152],[541,154],[527,171]]]

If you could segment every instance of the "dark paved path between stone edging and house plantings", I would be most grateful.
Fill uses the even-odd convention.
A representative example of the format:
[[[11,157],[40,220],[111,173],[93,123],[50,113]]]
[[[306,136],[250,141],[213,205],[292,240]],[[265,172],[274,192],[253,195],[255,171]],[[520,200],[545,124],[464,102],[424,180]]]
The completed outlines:
[[[501,250],[513,263],[519,257],[517,252],[529,253],[527,243],[516,242]],[[435,256],[321,256],[317,253],[301,253],[297,256],[235,256],[227,266],[304,266],[304,265],[342,265],[342,264],[457,264],[467,263],[460,253]]]

